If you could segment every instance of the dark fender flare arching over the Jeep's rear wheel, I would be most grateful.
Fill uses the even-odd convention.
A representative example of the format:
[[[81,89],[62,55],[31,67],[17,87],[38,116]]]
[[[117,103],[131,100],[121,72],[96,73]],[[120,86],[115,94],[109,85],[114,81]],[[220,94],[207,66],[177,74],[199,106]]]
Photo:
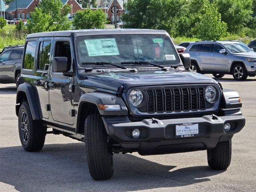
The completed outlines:
[[[33,86],[29,83],[23,83],[19,85],[17,94],[16,94],[16,104],[20,103],[20,96],[22,92],[26,94],[26,98],[28,100],[28,104],[29,104],[29,108],[30,108],[33,120],[40,120],[41,119],[40,112],[39,112],[38,103],[36,100],[36,93],[34,91]],[[19,115],[20,105],[16,105],[17,116]]]

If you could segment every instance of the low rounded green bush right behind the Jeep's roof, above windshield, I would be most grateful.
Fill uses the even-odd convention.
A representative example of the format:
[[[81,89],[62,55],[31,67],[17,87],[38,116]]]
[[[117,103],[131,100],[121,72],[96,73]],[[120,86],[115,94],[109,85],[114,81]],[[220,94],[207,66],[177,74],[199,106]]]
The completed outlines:
[[[73,26],[76,29],[99,29],[104,28],[104,24],[106,24],[106,15],[101,9],[77,11],[73,20]]]

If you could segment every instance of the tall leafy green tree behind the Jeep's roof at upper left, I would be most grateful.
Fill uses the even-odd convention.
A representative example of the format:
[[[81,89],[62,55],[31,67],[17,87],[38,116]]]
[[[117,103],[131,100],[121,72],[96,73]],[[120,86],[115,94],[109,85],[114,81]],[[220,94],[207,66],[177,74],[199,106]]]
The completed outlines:
[[[63,5],[61,0],[42,0],[39,7],[31,13],[32,20],[28,22],[29,32],[47,32],[70,29],[68,13],[71,6]]]

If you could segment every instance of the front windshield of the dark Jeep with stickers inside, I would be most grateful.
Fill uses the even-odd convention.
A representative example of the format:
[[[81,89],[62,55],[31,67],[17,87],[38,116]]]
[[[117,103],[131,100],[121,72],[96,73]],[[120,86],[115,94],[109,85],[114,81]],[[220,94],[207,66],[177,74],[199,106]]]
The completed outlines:
[[[170,37],[166,35],[79,36],[76,38],[76,52],[79,65],[85,68],[99,67],[93,64],[94,62],[111,62],[131,67],[152,66],[146,62],[163,66],[180,63]],[[101,67],[113,65],[104,64]]]

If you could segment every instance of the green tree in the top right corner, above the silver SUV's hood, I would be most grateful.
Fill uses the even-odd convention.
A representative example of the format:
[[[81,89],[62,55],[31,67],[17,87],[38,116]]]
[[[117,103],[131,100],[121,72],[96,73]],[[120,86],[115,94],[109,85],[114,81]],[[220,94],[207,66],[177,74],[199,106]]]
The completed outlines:
[[[252,0],[214,0],[228,32],[239,33],[252,18]],[[254,5],[255,6],[255,5]]]

